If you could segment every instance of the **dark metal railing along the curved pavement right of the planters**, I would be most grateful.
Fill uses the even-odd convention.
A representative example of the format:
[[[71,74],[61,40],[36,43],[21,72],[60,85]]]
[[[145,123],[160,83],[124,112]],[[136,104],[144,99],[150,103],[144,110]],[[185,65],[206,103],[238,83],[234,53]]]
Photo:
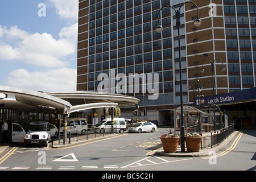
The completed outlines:
[[[225,138],[227,138],[234,131],[234,125],[225,127],[224,129],[208,132],[209,136],[203,137],[201,148],[212,148],[213,146],[221,143]]]

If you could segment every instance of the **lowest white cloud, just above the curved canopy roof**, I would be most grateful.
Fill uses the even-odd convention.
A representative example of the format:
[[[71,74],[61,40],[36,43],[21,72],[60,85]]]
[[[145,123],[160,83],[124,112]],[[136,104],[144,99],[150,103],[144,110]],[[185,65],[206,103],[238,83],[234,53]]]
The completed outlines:
[[[18,88],[35,91],[73,91],[76,90],[76,69],[60,68],[46,72],[28,72],[16,69],[9,74],[8,84]]]

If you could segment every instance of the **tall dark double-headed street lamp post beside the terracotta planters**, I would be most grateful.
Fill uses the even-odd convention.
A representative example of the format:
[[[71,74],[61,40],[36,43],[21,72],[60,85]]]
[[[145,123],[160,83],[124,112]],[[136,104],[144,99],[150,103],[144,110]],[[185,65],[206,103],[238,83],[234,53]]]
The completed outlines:
[[[180,5],[179,10],[176,10],[173,6],[164,6],[158,11],[158,26],[156,26],[156,31],[158,33],[163,31],[163,26],[159,21],[159,15],[160,11],[162,11],[164,8],[171,7],[175,11],[176,15],[176,27],[177,27],[177,33],[178,33],[178,44],[179,44],[179,67],[180,67],[180,146],[181,146],[181,152],[185,152],[185,140],[184,140],[184,121],[183,121],[183,92],[182,92],[182,79],[181,79],[181,52],[180,52],[180,8],[185,4],[185,3],[193,3],[193,5],[196,6],[197,10],[197,18],[194,21],[194,24],[196,27],[200,26],[202,21],[199,18],[199,13],[198,13],[198,7],[194,2],[187,1],[184,2]]]

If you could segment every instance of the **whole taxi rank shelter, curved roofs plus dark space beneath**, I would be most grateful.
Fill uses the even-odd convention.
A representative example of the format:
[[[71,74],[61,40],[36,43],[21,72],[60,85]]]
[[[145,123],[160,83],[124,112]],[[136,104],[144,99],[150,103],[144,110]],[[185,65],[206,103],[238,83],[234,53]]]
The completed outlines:
[[[120,94],[85,91],[44,93],[0,85],[0,120],[7,120],[10,135],[11,123],[19,123],[24,129],[30,121],[36,120],[57,123],[56,120],[63,118],[67,123],[69,114],[76,111],[135,105],[138,102],[137,98]]]

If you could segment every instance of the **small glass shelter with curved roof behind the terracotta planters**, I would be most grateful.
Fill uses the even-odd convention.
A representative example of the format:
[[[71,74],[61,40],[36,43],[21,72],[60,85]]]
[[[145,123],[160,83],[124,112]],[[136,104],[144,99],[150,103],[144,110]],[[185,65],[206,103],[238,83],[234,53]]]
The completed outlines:
[[[180,106],[174,109],[174,130],[180,131]],[[195,127],[199,126],[200,115],[205,114],[203,111],[193,106],[183,106],[184,130],[185,132],[196,132]],[[197,122],[198,121],[198,122]],[[198,127],[200,128],[200,127]]]

